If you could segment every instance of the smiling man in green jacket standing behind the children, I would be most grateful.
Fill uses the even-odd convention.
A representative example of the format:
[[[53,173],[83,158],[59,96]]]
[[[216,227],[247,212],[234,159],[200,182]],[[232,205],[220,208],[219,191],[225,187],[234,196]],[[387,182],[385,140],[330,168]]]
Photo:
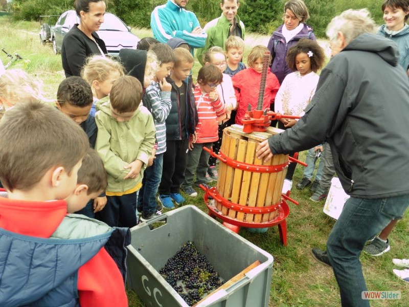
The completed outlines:
[[[219,46],[224,49],[224,42],[231,36],[239,36],[244,39],[244,24],[237,16],[237,10],[240,7],[239,0],[221,0],[220,8],[222,14],[206,24],[205,32],[208,37],[205,47],[197,49],[197,59],[203,65],[203,54],[213,46]]]

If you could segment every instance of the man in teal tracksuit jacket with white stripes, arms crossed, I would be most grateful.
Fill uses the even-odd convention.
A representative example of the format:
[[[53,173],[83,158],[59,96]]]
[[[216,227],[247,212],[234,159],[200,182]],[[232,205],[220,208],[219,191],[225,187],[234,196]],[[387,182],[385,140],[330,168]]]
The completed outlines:
[[[150,27],[153,37],[166,43],[172,37],[184,39],[194,48],[205,46],[207,34],[200,27],[196,15],[185,10],[189,0],[168,0],[164,5],[154,8],[150,15]]]

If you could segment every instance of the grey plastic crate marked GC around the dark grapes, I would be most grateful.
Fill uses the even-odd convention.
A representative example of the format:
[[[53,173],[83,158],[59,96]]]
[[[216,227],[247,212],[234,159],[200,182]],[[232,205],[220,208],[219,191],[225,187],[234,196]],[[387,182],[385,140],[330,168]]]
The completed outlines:
[[[166,224],[153,228],[153,223]],[[155,226],[157,223],[155,224]],[[253,262],[261,264],[225,290],[212,293],[198,306],[268,306],[273,257],[195,206],[185,206],[131,229],[128,246],[128,287],[146,306],[188,306],[158,273],[189,240],[205,255],[220,277],[229,280]]]

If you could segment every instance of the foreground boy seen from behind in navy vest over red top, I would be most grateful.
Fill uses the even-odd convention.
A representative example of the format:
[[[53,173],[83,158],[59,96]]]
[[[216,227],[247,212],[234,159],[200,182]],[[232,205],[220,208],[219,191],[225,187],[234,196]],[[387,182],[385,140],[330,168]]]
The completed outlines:
[[[127,306],[104,248],[114,230],[65,216],[89,148],[84,131],[50,105],[22,102],[0,122],[0,144],[8,192],[0,197],[0,250],[8,251],[0,253],[0,305]]]

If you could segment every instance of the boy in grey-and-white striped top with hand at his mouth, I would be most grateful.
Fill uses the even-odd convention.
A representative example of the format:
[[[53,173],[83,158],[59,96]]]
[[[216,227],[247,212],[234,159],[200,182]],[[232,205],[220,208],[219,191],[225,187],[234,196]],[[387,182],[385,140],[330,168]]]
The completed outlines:
[[[153,149],[149,167],[144,172],[142,188],[138,193],[138,212],[142,213],[141,220],[147,221],[161,214],[162,206],[156,204],[156,193],[162,178],[163,156],[166,151],[166,125],[172,105],[170,91],[172,85],[166,81],[176,61],[173,50],[165,43],[157,43],[152,51],[161,63],[155,73],[152,83],[143,95],[143,104],[153,116],[156,128],[156,145]]]

